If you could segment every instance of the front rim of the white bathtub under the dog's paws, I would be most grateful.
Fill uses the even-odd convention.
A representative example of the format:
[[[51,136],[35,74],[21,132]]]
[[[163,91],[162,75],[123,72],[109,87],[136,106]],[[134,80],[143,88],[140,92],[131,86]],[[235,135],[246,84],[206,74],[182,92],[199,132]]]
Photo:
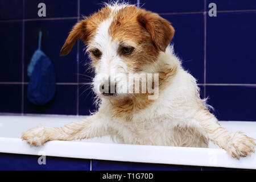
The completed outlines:
[[[0,138],[0,153],[38,155],[60,158],[112,160],[119,162],[174,164],[181,166],[256,169],[256,155],[234,159],[221,148],[145,146],[134,144],[50,141],[30,147],[19,138]],[[86,151],[86,152],[83,152]],[[105,151],[105,152],[102,152]],[[111,155],[110,155],[111,154]],[[157,156],[155,154],[158,154]],[[168,157],[168,156],[174,156]]]

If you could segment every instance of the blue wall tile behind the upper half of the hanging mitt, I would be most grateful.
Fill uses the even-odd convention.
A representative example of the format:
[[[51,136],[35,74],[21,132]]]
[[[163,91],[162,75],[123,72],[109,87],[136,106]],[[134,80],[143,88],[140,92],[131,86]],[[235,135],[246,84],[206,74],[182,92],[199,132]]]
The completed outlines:
[[[25,23],[24,80],[28,82],[27,67],[38,48],[38,31],[43,31],[42,51],[51,59],[56,82],[77,82],[77,44],[67,56],[60,56],[60,49],[67,39],[76,19],[38,20]],[[46,38],[44,38],[46,36]]]

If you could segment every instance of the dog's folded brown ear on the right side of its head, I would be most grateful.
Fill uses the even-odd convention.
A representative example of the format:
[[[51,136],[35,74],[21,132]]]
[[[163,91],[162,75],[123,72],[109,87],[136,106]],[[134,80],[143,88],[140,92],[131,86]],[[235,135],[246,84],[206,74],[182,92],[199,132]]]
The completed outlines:
[[[161,51],[166,51],[174,37],[174,27],[166,19],[151,11],[143,11],[137,17],[138,22],[150,32],[153,42]]]

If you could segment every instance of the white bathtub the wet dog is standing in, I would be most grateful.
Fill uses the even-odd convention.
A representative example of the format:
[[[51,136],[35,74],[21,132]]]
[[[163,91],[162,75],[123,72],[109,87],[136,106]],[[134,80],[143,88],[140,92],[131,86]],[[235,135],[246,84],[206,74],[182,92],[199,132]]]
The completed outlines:
[[[39,155],[64,158],[101,159],[122,162],[176,164],[185,166],[226,167],[256,169],[256,155],[240,160],[231,158],[226,152],[210,143],[209,148],[143,146],[115,144],[110,137],[76,141],[51,141],[42,147],[30,147],[20,136],[31,127],[45,125],[60,127],[82,117],[75,116],[0,116],[0,152],[11,154]],[[243,131],[256,138],[256,122],[220,122],[230,131]],[[103,152],[104,151],[104,152]]]

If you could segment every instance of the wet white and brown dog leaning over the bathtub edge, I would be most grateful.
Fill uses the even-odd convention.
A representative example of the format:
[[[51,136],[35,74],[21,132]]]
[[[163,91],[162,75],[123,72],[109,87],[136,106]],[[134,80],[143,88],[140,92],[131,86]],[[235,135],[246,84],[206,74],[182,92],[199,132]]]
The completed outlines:
[[[120,143],[158,146],[208,147],[212,141],[233,158],[251,155],[254,139],[222,128],[200,98],[196,79],[184,70],[170,46],[174,32],[168,20],[127,3],[106,4],[84,17],[69,32],[60,55],[67,55],[77,40],[84,42],[95,72],[98,110],[64,127],[35,127],[22,139],[31,146],[104,135]],[[121,92],[129,74],[148,73],[158,78],[147,80],[154,93]],[[110,81],[112,74],[115,78]],[[127,88],[132,85],[129,82]],[[142,88],[140,84],[137,91]]]

